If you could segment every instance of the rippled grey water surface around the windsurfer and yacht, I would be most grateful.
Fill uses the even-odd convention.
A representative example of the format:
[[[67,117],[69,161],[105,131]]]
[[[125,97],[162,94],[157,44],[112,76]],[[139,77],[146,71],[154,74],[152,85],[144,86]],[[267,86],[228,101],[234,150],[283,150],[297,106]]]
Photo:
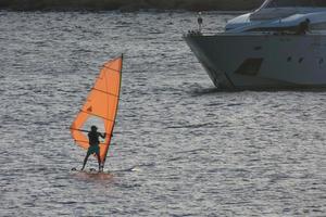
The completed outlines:
[[[196,20],[0,12],[0,216],[326,216],[326,92],[216,91],[181,38]],[[111,175],[73,173],[68,127],[121,53]]]

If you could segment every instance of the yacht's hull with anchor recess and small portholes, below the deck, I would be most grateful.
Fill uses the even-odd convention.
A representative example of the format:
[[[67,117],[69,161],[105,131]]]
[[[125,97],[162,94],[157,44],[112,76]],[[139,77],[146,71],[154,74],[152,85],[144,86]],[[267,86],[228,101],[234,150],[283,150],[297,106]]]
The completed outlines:
[[[188,35],[185,40],[222,89],[326,87],[323,35]]]

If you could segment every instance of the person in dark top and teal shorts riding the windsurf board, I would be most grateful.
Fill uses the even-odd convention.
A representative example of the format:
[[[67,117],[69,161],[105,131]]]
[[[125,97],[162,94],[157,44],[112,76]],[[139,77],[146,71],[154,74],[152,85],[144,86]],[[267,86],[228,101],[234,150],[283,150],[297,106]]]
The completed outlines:
[[[85,165],[87,163],[87,159],[88,159],[89,155],[91,155],[91,154],[97,155],[98,163],[99,163],[99,171],[102,169],[101,158],[100,158],[100,146],[99,146],[100,140],[99,140],[99,137],[104,139],[106,137],[106,133],[105,132],[104,133],[98,132],[97,126],[91,126],[90,131],[88,132],[89,148],[87,150],[87,154],[85,156],[82,170],[84,170]]]

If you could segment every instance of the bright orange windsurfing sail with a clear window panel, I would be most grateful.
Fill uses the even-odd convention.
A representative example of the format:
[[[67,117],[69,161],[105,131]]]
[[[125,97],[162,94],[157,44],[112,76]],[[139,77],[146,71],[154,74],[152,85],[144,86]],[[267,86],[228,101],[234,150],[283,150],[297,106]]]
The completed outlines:
[[[104,165],[109,151],[121,90],[123,56],[108,61],[100,72],[85,104],[71,126],[71,133],[76,143],[89,148],[87,132],[96,125],[99,131],[106,132],[100,143],[100,159]]]

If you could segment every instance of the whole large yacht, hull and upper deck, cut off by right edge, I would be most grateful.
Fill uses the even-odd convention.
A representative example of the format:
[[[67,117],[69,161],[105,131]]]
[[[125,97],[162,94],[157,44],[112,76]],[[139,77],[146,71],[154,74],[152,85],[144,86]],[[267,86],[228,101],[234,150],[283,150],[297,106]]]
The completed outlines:
[[[326,88],[326,0],[266,0],[185,40],[218,88]]]

